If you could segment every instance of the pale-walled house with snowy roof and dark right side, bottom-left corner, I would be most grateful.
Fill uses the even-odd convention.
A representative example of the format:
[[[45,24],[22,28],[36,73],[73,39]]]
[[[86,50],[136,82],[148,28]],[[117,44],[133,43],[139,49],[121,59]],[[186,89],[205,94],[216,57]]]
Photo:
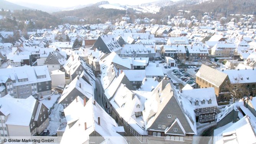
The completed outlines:
[[[34,136],[49,125],[48,108],[32,96],[26,99],[12,98],[9,94],[0,98],[1,137]]]

